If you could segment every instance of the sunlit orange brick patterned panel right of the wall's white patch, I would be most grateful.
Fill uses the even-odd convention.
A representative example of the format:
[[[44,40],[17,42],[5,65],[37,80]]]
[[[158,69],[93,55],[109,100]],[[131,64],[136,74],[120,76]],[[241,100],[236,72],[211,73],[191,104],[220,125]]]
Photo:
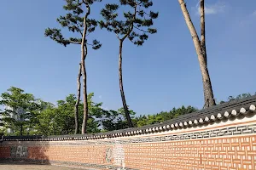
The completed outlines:
[[[139,169],[256,169],[256,137],[124,145],[125,165]]]

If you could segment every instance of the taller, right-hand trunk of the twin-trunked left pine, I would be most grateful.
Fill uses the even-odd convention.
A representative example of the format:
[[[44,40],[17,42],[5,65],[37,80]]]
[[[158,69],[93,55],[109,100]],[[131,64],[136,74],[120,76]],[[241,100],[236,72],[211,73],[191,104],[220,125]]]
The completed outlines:
[[[83,31],[83,37],[81,42],[81,66],[82,66],[82,73],[83,73],[83,93],[84,93],[84,118],[83,118],[83,124],[82,124],[82,134],[86,133],[87,120],[88,120],[87,77],[86,77],[86,70],[85,70],[85,58],[87,56],[87,41],[86,41],[87,18],[90,14],[90,6],[89,6],[89,3],[87,3],[87,1],[85,1],[85,5],[87,8],[87,12],[84,16],[84,31]]]

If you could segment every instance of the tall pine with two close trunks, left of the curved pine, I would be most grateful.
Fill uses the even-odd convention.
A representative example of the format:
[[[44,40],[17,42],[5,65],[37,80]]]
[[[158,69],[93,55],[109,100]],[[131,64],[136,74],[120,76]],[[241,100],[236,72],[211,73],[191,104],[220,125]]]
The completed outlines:
[[[81,61],[79,63],[79,76],[78,76],[78,99],[75,105],[75,133],[78,133],[79,128],[79,99],[80,99],[80,77],[83,74],[83,94],[84,94],[84,119],[82,124],[82,133],[86,133],[86,125],[88,120],[88,102],[87,102],[87,77],[85,70],[85,59],[88,54],[88,46],[93,49],[101,48],[102,44],[96,39],[92,43],[88,42],[88,36],[91,32],[96,30],[97,21],[90,19],[90,6],[93,3],[101,2],[101,0],[65,0],[66,5],[63,6],[67,10],[67,14],[60,16],[57,21],[62,28],[67,28],[68,31],[73,32],[74,37],[64,37],[61,29],[47,28],[44,35],[50,37],[55,42],[58,42],[65,47],[69,44],[79,44],[81,47]],[[85,10],[84,10],[85,8]],[[85,12],[84,12],[85,11]]]

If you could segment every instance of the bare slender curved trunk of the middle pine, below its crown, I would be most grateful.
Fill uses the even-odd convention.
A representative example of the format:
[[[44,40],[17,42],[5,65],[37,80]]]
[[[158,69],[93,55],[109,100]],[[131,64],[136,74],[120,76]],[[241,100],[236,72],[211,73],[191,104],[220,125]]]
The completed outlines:
[[[123,87],[123,72],[122,72],[122,49],[123,49],[123,42],[122,40],[119,41],[119,88],[120,88],[120,94],[123,102],[123,107],[125,110],[125,116],[126,120],[128,122],[129,127],[133,127],[133,124],[131,122],[131,116],[130,111],[128,110],[128,107],[126,105],[125,101],[125,92]]]

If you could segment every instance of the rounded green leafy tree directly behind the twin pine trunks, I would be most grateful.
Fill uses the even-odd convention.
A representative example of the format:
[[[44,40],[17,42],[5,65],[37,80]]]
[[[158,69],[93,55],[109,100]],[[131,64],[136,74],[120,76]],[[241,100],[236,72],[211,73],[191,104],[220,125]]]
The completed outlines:
[[[95,103],[92,101],[94,94],[88,95],[89,118],[88,118],[88,133],[100,132],[98,128],[99,122],[96,120],[102,116],[103,110],[102,103]],[[49,105],[47,109],[42,111],[38,116],[38,133],[44,135],[53,134],[72,134],[74,132],[74,117],[73,107],[76,103],[74,94],[69,94],[65,100],[58,100],[56,106]],[[83,120],[83,107],[82,103],[79,104],[79,121]]]

